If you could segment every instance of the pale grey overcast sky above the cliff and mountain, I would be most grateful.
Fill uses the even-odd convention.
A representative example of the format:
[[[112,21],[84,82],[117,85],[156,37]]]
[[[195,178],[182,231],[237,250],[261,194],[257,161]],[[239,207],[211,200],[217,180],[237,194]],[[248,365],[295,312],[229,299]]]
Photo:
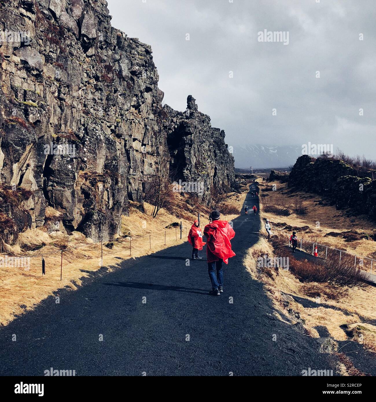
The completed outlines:
[[[108,7],[114,27],[152,46],[164,102],[182,111],[193,95],[234,148],[311,142],[376,159],[375,0],[108,0]],[[288,31],[288,45],[259,42],[264,29]]]

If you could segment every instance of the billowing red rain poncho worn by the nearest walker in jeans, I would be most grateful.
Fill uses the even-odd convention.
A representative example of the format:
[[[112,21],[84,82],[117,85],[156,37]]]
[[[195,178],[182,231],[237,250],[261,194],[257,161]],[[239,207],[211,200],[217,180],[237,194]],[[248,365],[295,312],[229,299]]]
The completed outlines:
[[[235,236],[234,229],[227,221],[213,221],[205,226],[203,230],[207,239],[206,255],[208,263],[218,261],[222,258],[225,264],[228,263],[228,258],[231,258],[235,253],[231,250],[230,240]]]

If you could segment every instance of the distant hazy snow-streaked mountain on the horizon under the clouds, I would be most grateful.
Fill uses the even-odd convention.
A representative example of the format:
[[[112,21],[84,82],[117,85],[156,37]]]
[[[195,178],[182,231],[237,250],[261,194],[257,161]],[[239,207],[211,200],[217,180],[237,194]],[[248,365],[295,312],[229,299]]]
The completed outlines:
[[[302,155],[301,146],[234,146],[236,168],[282,168],[293,165]]]

